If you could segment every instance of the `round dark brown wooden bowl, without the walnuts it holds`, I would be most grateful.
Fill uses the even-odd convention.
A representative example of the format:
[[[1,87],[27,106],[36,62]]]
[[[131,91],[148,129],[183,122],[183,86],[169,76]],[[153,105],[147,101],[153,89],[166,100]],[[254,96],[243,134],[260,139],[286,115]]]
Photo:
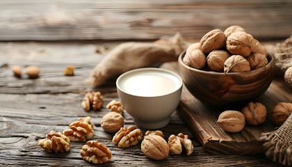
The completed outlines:
[[[179,71],[186,88],[198,100],[213,105],[234,104],[263,94],[273,80],[275,57],[268,52],[268,64],[250,72],[208,72],[188,67],[179,55]]]

